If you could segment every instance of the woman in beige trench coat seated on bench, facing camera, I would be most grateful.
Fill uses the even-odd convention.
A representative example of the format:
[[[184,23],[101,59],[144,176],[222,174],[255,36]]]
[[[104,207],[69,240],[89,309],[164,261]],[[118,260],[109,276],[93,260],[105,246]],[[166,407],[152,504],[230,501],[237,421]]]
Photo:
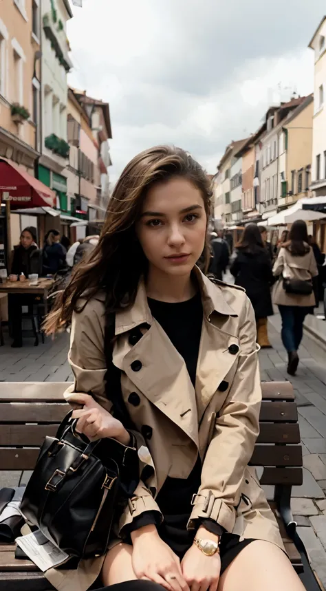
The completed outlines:
[[[303,591],[248,466],[259,433],[256,324],[242,288],[197,268],[210,184],[185,151],[155,147],[122,172],[100,241],[47,319],[71,323],[74,387],[65,396],[91,440],[137,442],[140,482],[107,555],[46,573],[61,591],[148,581],[166,591]],[[87,290],[85,291],[85,288]],[[127,431],[106,383],[105,324]],[[127,583],[129,581],[129,583]]]

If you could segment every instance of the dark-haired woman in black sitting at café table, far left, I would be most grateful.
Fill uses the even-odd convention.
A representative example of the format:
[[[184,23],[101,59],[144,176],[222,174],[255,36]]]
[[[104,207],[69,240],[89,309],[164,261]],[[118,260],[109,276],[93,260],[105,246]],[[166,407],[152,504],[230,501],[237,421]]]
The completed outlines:
[[[23,283],[28,279],[29,275],[39,273],[40,252],[41,251],[36,244],[36,228],[28,226],[28,228],[25,228],[21,233],[19,244],[14,246],[9,280],[12,282],[21,281]],[[14,339],[12,347],[23,346],[21,307],[23,305],[32,305],[34,300],[35,296],[28,293],[8,295],[9,322],[12,337]]]

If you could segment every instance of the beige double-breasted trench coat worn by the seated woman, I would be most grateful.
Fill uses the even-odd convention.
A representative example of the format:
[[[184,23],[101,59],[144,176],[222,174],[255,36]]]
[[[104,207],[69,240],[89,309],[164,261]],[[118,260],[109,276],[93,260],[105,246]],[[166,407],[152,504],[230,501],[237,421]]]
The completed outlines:
[[[267,540],[283,549],[256,472],[247,466],[261,406],[252,306],[242,288],[214,284],[198,269],[196,275],[204,319],[195,388],[183,358],[151,315],[143,283],[133,307],[116,315],[113,363],[122,370],[122,395],[137,429],[140,474],[146,464],[153,466],[149,480],[140,480],[117,532],[144,511],[160,511],[155,497],[166,477],[188,477],[199,452],[202,484],[193,497],[188,528],[195,528],[197,517],[210,517],[241,539]],[[104,381],[104,301],[105,294],[98,294],[73,316],[69,362],[75,384],[69,392],[91,391],[110,410]],[[144,323],[149,330],[140,332]],[[81,561],[75,571],[52,569],[45,576],[61,591],[85,591],[102,562],[103,557]]]

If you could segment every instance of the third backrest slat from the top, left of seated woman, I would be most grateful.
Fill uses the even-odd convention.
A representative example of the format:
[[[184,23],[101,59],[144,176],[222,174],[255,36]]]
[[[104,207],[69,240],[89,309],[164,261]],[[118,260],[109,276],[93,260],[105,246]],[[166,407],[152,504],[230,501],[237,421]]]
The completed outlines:
[[[56,436],[58,427],[59,423],[55,425],[0,425],[0,445],[9,447],[17,445],[41,446],[45,436]]]

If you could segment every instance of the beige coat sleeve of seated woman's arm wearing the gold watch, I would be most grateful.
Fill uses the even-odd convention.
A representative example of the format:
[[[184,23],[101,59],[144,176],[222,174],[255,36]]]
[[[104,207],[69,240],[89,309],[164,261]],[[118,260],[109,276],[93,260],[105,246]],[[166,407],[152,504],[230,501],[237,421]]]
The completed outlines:
[[[248,298],[241,313],[237,371],[215,422],[202,467],[202,482],[193,498],[188,529],[195,519],[214,519],[229,533],[235,526],[244,472],[259,434],[261,385],[256,323]]]

